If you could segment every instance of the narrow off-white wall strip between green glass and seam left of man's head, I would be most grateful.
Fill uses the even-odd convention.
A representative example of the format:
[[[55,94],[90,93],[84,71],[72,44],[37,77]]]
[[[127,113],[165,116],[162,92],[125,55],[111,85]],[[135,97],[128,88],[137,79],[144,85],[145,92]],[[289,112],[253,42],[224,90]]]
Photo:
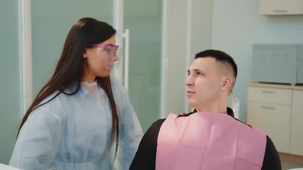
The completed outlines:
[[[187,2],[164,0],[164,88],[163,114],[182,113],[185,107]],[[163,82],[162,82],[163,83]]]

